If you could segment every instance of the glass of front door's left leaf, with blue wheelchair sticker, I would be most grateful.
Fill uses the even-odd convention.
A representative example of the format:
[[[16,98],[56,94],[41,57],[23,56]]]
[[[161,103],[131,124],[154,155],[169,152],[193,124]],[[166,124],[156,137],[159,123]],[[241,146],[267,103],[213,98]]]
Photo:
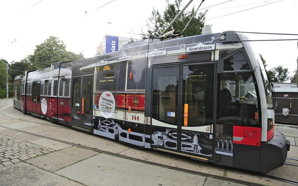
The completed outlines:
[[[153,70],[152,118],[177,126],[179,67]]]

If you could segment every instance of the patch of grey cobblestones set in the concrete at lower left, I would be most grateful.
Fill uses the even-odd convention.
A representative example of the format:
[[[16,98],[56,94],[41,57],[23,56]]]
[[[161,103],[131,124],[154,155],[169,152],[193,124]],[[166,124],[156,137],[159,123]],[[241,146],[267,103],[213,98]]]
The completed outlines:
[[[0,134],[0,168],[54,151],[53,149]]]

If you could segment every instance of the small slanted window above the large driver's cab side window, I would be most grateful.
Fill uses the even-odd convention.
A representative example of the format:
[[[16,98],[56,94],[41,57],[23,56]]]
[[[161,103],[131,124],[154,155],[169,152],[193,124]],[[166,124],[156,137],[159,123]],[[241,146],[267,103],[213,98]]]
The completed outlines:
[[[238,52],[224,60],[224,71],[239,70],[249,70],[249,66],[243,52]]]

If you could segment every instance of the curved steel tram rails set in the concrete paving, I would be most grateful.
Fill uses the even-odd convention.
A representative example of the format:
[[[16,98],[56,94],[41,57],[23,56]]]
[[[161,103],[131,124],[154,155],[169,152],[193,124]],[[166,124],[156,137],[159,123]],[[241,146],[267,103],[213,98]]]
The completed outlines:
[[[3,114],[5,116],[11,117],[11,118],[20,119],[20,120],[27,121],[27,122],[44,124],[44,125],[58,127],[58,128],[64,128],[64,129],[69,129],[69,130],[76,130],[76,129],[72,129],[72,128],[68,128],[68,127],[61,127],[61,126],[56,126],[56,125],[51,125],[51,124],[45,124],[45,123],[41,123],[41,122],[35,122],[35,121],[27,120],[27,119],[21,119],[21,118],[17,118],[17,117],[14,117],[14,116],[10,116],[10,115],[5,114],[5,113],[3,113],[1,111],[1,108],[3,108],[3,107],[4,106],[0,107],[0,114]],[[218,176],[218,175],[214,175],[214,174],[208,174],[208,173],[203,173],[203,172],[199,172],[199,171],[193,171],[193,170],[189,170],[189,169],[184,169],[184,168],[179,168],[179,167],[173,167],[173,166],[170,166],[170,165],[164,165],[164,164],[161,164],[161,163],[155,163],[155,162],[151,162],[151,161],[147,161],[147,160],[141,160],[141,159],[138,159],[138,158],[129,157],[129,156],[125,156],[125,155],[119,155],[117,153],[103,151],[103,150],[99,150],[99,149],[96,149],[96,148],[92,148],[92,147],[88,147],[88,146],[83,146],[81,144],[75,144],[75,143],[68,142],[68,141],[63,141],[63,140],[59,140],[59,139],[55,139],[55,138],[50,138],[50,137],[47,137],[47,136],[43,136],[43,135],[39,135],[39,134],[35,134],[35,133],[30,133],[30,132],[27,132],[27,131],[24,131],[24,130],[15,129],[15,128],[12,128],[12,127],[7,127],[7,126],[4,126],[4,125],[1,125],[1,127],[7,128],[7,129],[11,129],[11,130],[15,130],[15,131],[22,132],[22,133],[27,133],[27,134],[30,134],[30,135],[35,135],[35,136],[38,136],[38,137],[41,137],[41,138],[46,138],[46,139],[58,141],[58,142],[61,142],[61,143],[64,143],[64,144],[78,146],[78,147],[81,147],[81,148],[84,148],[84,149],[93,150],[95,152],[100,152],[100,153],[104,153],[104,154],[107,154],[107,155],[113,155],[113,156],[122,157],[122,158],[129,159],[129,160],[138,161],[138,162],[141,162],[141,163],[146,163],[146,164],[150,164],[150,165],[160,166],[160,167],[163,167],[163,168],[169,168],[169,169],[172,169],[172,170],[187,172],[187,173],[196,174],[196,175],[200,175],[200,176],[206,176],[206,177],[215,178],[215,179],[222,179],[222,180],[225,180],[225,181],[235,182],[235,183],[239,183],[239,184],[243,184],[243,185],[263,186],[263,184],[257,184],[257,183],[247,182],[247,181],[243,181],[243,180],[228,178],[228,177],[225,177],[225,176]],[[288,158],[288,159],[298,160],[296,158]],[[288,164],[285,164],[285,165],[298,166],[298,164],[295,164],[295,163],[288,163]],[[235,169],[235,170],[238,170],[239,171],[239,169]],[[245,171],[245,170],[242,170],[242,169],[240,169],[240,170],[243,171],[243,172],[245,172],[245,173],[252,174],[252,175],[255,175],[255,176],[262,176],[262,177],[265,177],[265,178],[270,178],[270,179],[274,179],[274,180],[277,180],[277,181],[282,181],[282,182],[286,182],[286,183],[298,185],[298,182],[297,181],[288,180],[288,179],[284,179],[284,178],[280,178],[280,177],[276,177],[276,176],[271,176],[271,175],[267,175],[267,174],[252,172],[252,171]]]

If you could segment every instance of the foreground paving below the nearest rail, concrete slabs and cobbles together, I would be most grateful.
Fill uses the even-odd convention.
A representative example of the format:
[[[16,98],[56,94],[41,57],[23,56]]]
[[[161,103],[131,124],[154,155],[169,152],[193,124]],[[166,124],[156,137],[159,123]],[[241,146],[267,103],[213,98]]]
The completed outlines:
[[[59,143],[0,134],[0,185],[240,185]]]

